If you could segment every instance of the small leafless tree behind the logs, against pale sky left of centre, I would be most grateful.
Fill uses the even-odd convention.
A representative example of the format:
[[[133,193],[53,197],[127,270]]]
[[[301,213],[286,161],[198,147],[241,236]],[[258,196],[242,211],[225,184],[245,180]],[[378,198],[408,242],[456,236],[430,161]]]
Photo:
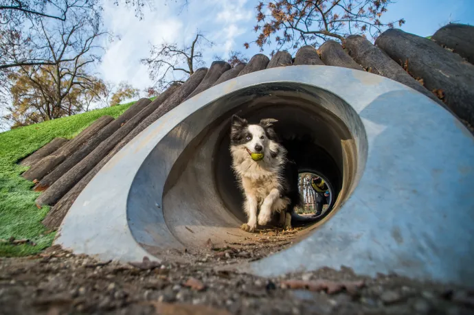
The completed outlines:
[[[204,64],[203,49],[214,43],[207,40],[201,32],[190,45],[179,46],[177,43],[152,45],[150,58],[140,60],[148,66],[150,78],[156,80],[159,89],[166,89],[173,83],[183,83],[197,67]]]

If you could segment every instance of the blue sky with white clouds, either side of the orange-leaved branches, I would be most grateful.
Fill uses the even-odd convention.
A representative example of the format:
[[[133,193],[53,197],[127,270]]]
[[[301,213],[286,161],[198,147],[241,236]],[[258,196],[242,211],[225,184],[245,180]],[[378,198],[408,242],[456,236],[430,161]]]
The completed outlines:
[[[179,1],[179,0],[178,0]],[[149,44],[163,41],[190,43],[196,30],[200,30],[216,45],[207,49],[204,61],[207,66],[214,55],[225,57],[229,50],[244,51],[247,56],[259,52],[258,47],[245,49],[242,44],[255,39],[255,6],[253,0],[190,0],[188,8],[179,4],[165,5],[165,1],[152,1],[153,8],[145,8],[144,19],[139,21],[133,10],[118,7],[106,1],[106,26],[120,40],[108,43],[102,65],[98,67],[102,78],[118,83],[126,80],[139,89],[153,84],[139,59],[149,54]],[[179,13],[179,14],[178,14]],[[390,5],[384,21],[403,17],[402,29],[420,36],[429,36],[442,25],[451,22],[474,25],[474,0],[398,0]],[[269,54],[270,48],[264,53]]]

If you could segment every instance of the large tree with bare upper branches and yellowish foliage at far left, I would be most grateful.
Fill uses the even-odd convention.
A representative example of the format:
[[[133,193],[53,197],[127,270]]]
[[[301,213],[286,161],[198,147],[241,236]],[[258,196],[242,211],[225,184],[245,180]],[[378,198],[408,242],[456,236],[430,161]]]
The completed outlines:
[[[104,84],[93,74],[91,65],[100,60],[101,47],[96,42],[106,34],[100,15],[82,8],[66,14],[65,21],[42,16],[31,19],[27,38],[18,32],[19,36],[1,38],[4,45],[0,51],[9,55],[0,59],[14,61],[12,67],[3,64],[7,67],[1,69],[10,84],[3,86],[3,91],[8,89],[11,95],[12,106],[7,110],[14,124],[73,115],[88,110],[98,100]],[[31,58],[30,54],[43,59]],[[29,59],[19,62],[25,56]]]

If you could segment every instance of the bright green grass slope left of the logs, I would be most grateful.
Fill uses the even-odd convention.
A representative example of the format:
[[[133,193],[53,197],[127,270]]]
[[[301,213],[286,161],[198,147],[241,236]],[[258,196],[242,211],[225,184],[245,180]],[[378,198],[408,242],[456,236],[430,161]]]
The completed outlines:
[[[46,231],[41,220],[49,207],[38,209],[34,200],[39,193],[31,190],[33,183],[20,176],[28,167],[17,165],[56,137],[74,138],[103,115],[118,117],[134,102],[91,110],[74,116],[45,121],[0,133],[0,239],[15,237],[36,243],[13,246],[0,243],[0,256],[24,256],[51,246],[55,232]]]

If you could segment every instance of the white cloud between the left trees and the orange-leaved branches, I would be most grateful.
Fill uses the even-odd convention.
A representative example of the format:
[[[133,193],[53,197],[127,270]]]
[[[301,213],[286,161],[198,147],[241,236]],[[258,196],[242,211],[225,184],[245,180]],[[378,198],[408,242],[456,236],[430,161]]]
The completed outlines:
[[[196,30],[216,45],[205,49],[203,59],[207,65],[214,55],[227,56],[231,50],[242,50],[239,36],[251,30],[253,4],[247,0],[193,0],[180,14],[179,6],[155,3],[154,10],[144,10],[142,21],[133,9],[125,5],[104,4],[106,27],[120,40],[107,44],[99,71],[107,81],[127,81],[139,89],[153,84],[141,58],[150,54],[150,45],[165,41],[189,45]],[[241,42],[241,43],[240,43]]]

